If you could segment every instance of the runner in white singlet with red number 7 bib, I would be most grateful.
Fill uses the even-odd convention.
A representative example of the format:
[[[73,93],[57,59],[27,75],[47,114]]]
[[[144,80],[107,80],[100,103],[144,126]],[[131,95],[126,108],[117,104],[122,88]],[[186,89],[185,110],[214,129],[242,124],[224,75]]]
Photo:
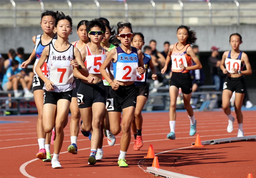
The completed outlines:
[[[72,19],[63,12],[57,14],[55,31],[58,39],[46,46],[35,67],[35,71],[44,84],[43,128],[50,133],[55,127],[54,154],[51,160],[52,168],[61,168],[59,153],[62,147],[63,126],[69,112],[72,89],[75,86],[73,71],[79,70],[83,75],[89,75],[83,64],[79,50],[68,42],[72,31]],[[41,70],[48,66],[47,77]],[[79,65],[78,65],[79,64]],[[76,68],[76,69],[75,69]],[[56,117],[55,117],[56,115]]]

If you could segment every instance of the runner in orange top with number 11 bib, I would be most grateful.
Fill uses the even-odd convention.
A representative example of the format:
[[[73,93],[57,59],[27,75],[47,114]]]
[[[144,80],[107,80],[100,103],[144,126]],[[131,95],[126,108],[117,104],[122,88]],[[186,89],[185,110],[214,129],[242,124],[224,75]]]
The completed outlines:
[[[174,45],[170,45],[165,66],[161,70],[161,73],[164,74],[168,67],[168,63],[172,59],[172,77],[169,81],[169,124],[171,130],[167,135],[167,138],[169,139],[175,139],[176,100],[179,94],[179,88],[182,90],[184,108],[187,110],[188,117],[190,119],[189,135],[193,136],[196,133],[196,120],[194,118],[193,108],[190,105],[192,80],[189,74],[189,70],[201,69],[202,65],[190,46],[190,44],[194,44],[196,42],[196,32],[193,30],[189,31],[189,29],[190,27],[183,25],[178,27],[177,37],[179,42],[175,43]],[[196,65],[192,66],[192,60],[196,63]]]

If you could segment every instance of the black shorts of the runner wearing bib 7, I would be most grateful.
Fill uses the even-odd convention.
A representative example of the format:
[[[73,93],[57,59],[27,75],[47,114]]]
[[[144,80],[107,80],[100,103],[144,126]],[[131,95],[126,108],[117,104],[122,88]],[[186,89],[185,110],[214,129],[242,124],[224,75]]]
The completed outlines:
[[[50,103],[57,105],[59,99],[67,99],[71,102],[72,90],[66,92],[44,92],[44,104]]]

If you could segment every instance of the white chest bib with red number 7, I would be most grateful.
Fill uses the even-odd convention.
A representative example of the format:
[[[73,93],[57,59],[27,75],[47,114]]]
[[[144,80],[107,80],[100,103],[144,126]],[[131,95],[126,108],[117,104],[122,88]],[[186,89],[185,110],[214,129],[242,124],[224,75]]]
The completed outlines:
[[[73,82],[73,67],[72,66],[51,66],[50,81],[54,85],[63,85]]]

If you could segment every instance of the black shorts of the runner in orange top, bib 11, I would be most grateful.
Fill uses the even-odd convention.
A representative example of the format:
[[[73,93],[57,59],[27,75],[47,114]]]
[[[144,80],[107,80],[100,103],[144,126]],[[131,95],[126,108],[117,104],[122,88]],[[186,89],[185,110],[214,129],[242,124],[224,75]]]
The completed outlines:
[[[182,93],[184,94],[190,94],[192,92],[192,79],[189,72],[172,72],[172,77],[170,78],[169,85],[174,85],[177,88],[181,88]]]

